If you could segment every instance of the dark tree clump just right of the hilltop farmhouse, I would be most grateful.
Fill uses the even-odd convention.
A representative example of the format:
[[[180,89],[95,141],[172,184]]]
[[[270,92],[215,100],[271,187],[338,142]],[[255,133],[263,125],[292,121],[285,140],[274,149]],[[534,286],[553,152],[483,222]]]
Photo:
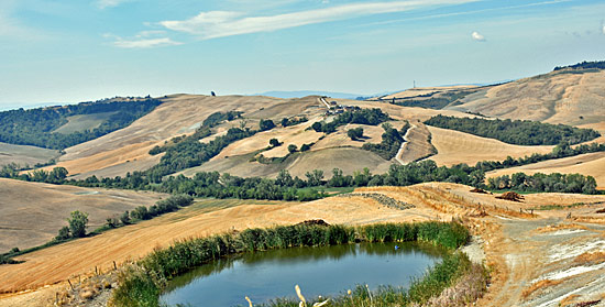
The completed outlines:
[[[337,128],[348,123],[377,125],[387,120],[389,120],[388,114],[378,108],[359,109],[342,112],[331,122],[314,122],[311,128],[317,132],[332,133],[337,131]]]

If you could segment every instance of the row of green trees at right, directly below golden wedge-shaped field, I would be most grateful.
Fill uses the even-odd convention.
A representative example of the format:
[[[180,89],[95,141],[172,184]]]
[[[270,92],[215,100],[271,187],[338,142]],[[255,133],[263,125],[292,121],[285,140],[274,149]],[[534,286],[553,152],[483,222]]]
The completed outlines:
[[[515,173],[487,179],[491,189],[514,189],[518,191],[583,193],[596,194],[596,180],[581,174],[535,174]]]

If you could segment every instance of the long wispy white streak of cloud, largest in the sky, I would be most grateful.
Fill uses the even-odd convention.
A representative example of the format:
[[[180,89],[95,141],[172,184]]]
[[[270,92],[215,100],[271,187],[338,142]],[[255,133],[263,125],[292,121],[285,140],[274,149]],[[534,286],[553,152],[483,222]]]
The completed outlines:
[[[353,3],[268,17],[244,17],[244,13],[241,12],[210,11],[201,12],[188,20],[162,21],[160,24],[168,30],[186,32],[198,35],[204,40],[209,40],[239,34],[270,32],[371,14],[410,11],[429,6],[460,4],[475,1],[479,0],[417,0]]]

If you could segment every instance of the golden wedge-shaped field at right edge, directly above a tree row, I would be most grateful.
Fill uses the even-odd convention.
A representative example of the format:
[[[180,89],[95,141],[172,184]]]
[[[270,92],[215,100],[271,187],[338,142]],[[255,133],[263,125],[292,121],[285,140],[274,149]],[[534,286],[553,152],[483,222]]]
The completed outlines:
[[[543,161],[535,164],[493,171],[486,177],[510,175],[514,173],[532,175],[536,173],[563,173],[590,175],[596,179],[598,188],[605,187],[605,153],[587,153],[576,156]]]

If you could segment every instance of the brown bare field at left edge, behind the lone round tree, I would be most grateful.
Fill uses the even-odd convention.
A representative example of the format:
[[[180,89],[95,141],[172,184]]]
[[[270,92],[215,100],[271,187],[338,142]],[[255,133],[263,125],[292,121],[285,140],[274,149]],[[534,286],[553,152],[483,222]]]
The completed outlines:
[[[145,205],[162,194],[57,186],[0,178],[0,253],[46,243],[67,226],[69,212],[89,213],[91,231],[106,218]]]

